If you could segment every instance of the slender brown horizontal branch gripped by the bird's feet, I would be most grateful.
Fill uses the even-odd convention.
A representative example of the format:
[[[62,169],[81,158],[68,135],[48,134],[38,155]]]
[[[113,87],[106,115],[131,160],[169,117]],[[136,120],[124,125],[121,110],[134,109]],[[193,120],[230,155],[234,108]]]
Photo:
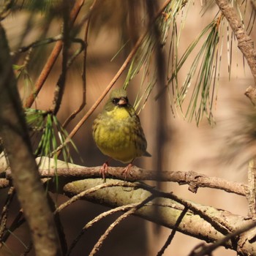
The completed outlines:
[[[72,165],[58,161],[58,167],[39,168],[41,178],[53,178],[58,175],[59,177],[80,179],[80,178],[98,178],[100,175],[101,166],[97,167],[83,167],[80,165]],[[64,166],[64,167],[63,167]],[[108,173],[105,174],[106,178],[124,179],[121,174],[124,167],[108,167]],[[6,170],[7,179],[12,179],[10,169]],[[157,170],[146,170],[140,167],[132,166],[131,172],[127,176],[127,181],[156,181],[159,178]],[[194,171],[162,171],[159,181],[172,181],[180,185],[188,184],[189,191],[195,193],[199,187],[208,187],[211,189],[222,189],[225,192],[233,193],[236,195],[246,196],[248,187],[246,184],[238,183],[235,181],[226,181],[218,177],[209,177],[202,173]],[[9,181],[8,181],[9,182]],[[7,186],[7,180],[3,178],[3,184]],[[3,185],[3,187],[5,187]],[[1,187],[0,187],[1,188]]]

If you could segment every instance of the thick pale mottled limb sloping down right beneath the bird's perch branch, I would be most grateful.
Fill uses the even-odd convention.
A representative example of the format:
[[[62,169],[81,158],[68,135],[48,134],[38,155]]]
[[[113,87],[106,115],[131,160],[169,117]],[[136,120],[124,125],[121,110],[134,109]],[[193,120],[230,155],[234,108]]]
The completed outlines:
[[[86,179],[83,181],[74,181],[64,186],[64,192],[68,196],[78,195],[80,192],[85,192],[86,189],[91,189],[99,184],[102,184],[102,179]],[[111,179],[107,179],[108,182],[113,182]],[[85,194],[83,199],[91,200],[94,203],[100,203],[101,205],[115,208],[118,206],[129,205],[131,203],[139,203],[145,200],[150,195],[155,195],[156,198],[151,203],[146,204],[136,211],[135,215],[148,219],[151,222],[155,222],[158,225],[173,228],[176,227],[176,222],[181,212],[184,209],[184,205],[177,203],[176,200],[160,196],[161,193],[156,192],[152,189],[132,188],[125,189],[124,187],[105,187],[99,189],[96,192]],[[217,208],[209,206],[200,206],[199,204],[187,202],[187,205],[191,205],[192,208],[197,208],[201,212],[205,213],[211,219],[223,219],[227,225],[233,227],[233,230],[239,230],[245,225],[251,225],[251,220],[245,220],[244,217],[231,214],[228,211],[219,210]],[[158,207],[158,214],[155,214],[155,207]],[[225,238],[222,233],[215,230],[210,222],[206,221],[199,215],[195,214],[194,210],[189,208],[189,212],[185,214],[178,225],[177,230],[181,233],[187,234],[199,238],[206,242],[216,242],[219,239]],[[192,211],[191,211],[192,210]],[[255,243],[248,241],[246,236],[236,237],[236,242],[225,241],[224,246],[226,248],[243,252],[243,255],[255,255]]]

